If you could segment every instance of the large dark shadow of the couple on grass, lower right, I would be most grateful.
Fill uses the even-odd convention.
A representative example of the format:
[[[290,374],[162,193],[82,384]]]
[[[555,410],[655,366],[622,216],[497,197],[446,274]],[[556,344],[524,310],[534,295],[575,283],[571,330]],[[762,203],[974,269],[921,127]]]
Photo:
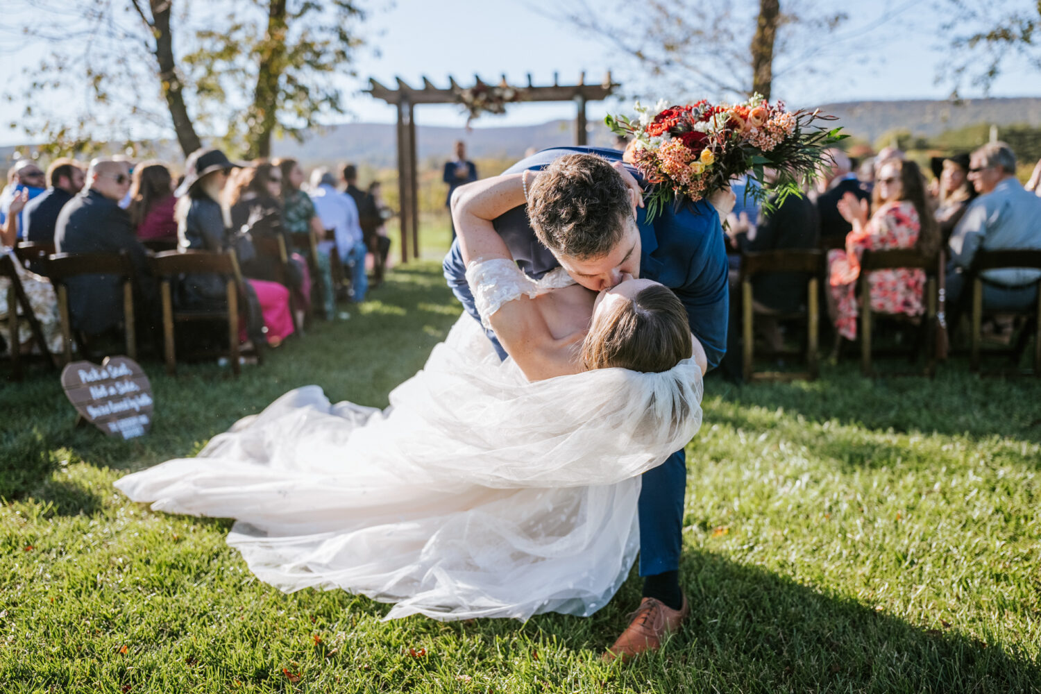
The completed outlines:
[[[681,575],[691,612],[656,654],[619,676],[656,691],[1037,691],[1041,668],[950,628],[919,627],[845,597],[832,597],[754,566],[709,552],[684,556]],[[629,581],[611,605],[582,620],[533,619],[544,637],[600,650],[639,600]],[[955,625],[957,626],[957,625]],[[582,631],[585,631],[584,628]]]

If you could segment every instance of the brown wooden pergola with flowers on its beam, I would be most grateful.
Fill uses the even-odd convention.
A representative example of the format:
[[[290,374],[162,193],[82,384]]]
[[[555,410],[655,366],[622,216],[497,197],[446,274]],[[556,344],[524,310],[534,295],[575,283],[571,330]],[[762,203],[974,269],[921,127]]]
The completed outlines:
[[[414,108],[418,104],[462,104],[461,95],[465,87],[459,86],[453,77],[449,77],[448,88],[434,86],[429,79],[423,78],[423,88],[412,88],[400,77],[396,78],[398,87],[391,88],[380,84],[375,79],[369,80],[365,93],[377,99],[398,107],[398,190],[401,200],[401,260],[408,262],[409,248],[412,257],[420,256],[420,209],[418,209],[418,175],[415,165],[415,120]],[[476,85],[485,85],[480,77],[475,76]],[[506,75],[502,76],[499,86],[505,87]],[[528,86],[514,87],[518,101],[574,101],[578,109],[575,127],[577,145],[586,144],[586,103],[606,99],[617,87],[611,81],[608,72],[600,84],[586,84],[585,73],[582,73],[578,84],[559,84],[557,74],[553,75],[553,84],[536,86],[528,75]],[[409,242],[411,238],[411,242]]]

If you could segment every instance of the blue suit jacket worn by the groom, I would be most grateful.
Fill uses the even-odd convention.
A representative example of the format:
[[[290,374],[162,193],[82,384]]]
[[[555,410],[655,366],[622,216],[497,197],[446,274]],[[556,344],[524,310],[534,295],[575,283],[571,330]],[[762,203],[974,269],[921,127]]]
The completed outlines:
[[[522,159],[504,173],[540,170],[554,159],[573,152],[599,154],[610,161],[621,160],[621,152],[617,150],[558,147]],[[629,170],[639,179],[633,168]],[[636,222],[642,246],[640,277],[661,282],[676,292],[687,309],[690,331],[704,345],[709,368],[712,368],[727,351],[727,315],[730,310],[727,251],[719,215],[712,205],[702,200],[687,202],[679,210],[669,207],[651,224],[645,217],[646,210],[639,209]],[[537,279],[559,266],[557,259],[535,236],[523,206],[498,217],[494,227],[506,241],[513,259],[529,276]],[[466,267],[458,239],[453,241],[443,266],[452,291],[462,302],[466,312],[480,320],[474,307],[474,295],[466,284]],[[506,353],[494,334],[490,330],[487,333],[499,355],[505,358]]]

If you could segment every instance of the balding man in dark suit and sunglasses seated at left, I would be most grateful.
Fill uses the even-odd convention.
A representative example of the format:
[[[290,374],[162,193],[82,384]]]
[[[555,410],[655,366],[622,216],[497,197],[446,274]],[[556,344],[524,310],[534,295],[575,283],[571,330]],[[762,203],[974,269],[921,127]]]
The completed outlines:
[[[130,215],[119,201],[130,189],[124,161],[95,159],[86,172],[86,187],[58,214],[54,246],[58,253],[126,253],[134,265],[134,309],[138,330],[158,324],[158,290],[148,263],[148,251],[133,233]],[[69,313],[74,330],[99,335],[123,323],[123,280],[115,275],[70,278]]]

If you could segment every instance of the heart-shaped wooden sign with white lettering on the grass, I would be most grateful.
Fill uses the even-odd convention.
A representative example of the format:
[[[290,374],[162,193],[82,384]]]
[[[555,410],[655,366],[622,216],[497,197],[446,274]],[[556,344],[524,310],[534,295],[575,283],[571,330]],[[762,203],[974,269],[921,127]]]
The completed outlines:
[[[61,371],[61,387],[76,411],[109,436],[144,436],[152,426],[152,385],[129,357],[105,357],[100,366],[74,361]]]

